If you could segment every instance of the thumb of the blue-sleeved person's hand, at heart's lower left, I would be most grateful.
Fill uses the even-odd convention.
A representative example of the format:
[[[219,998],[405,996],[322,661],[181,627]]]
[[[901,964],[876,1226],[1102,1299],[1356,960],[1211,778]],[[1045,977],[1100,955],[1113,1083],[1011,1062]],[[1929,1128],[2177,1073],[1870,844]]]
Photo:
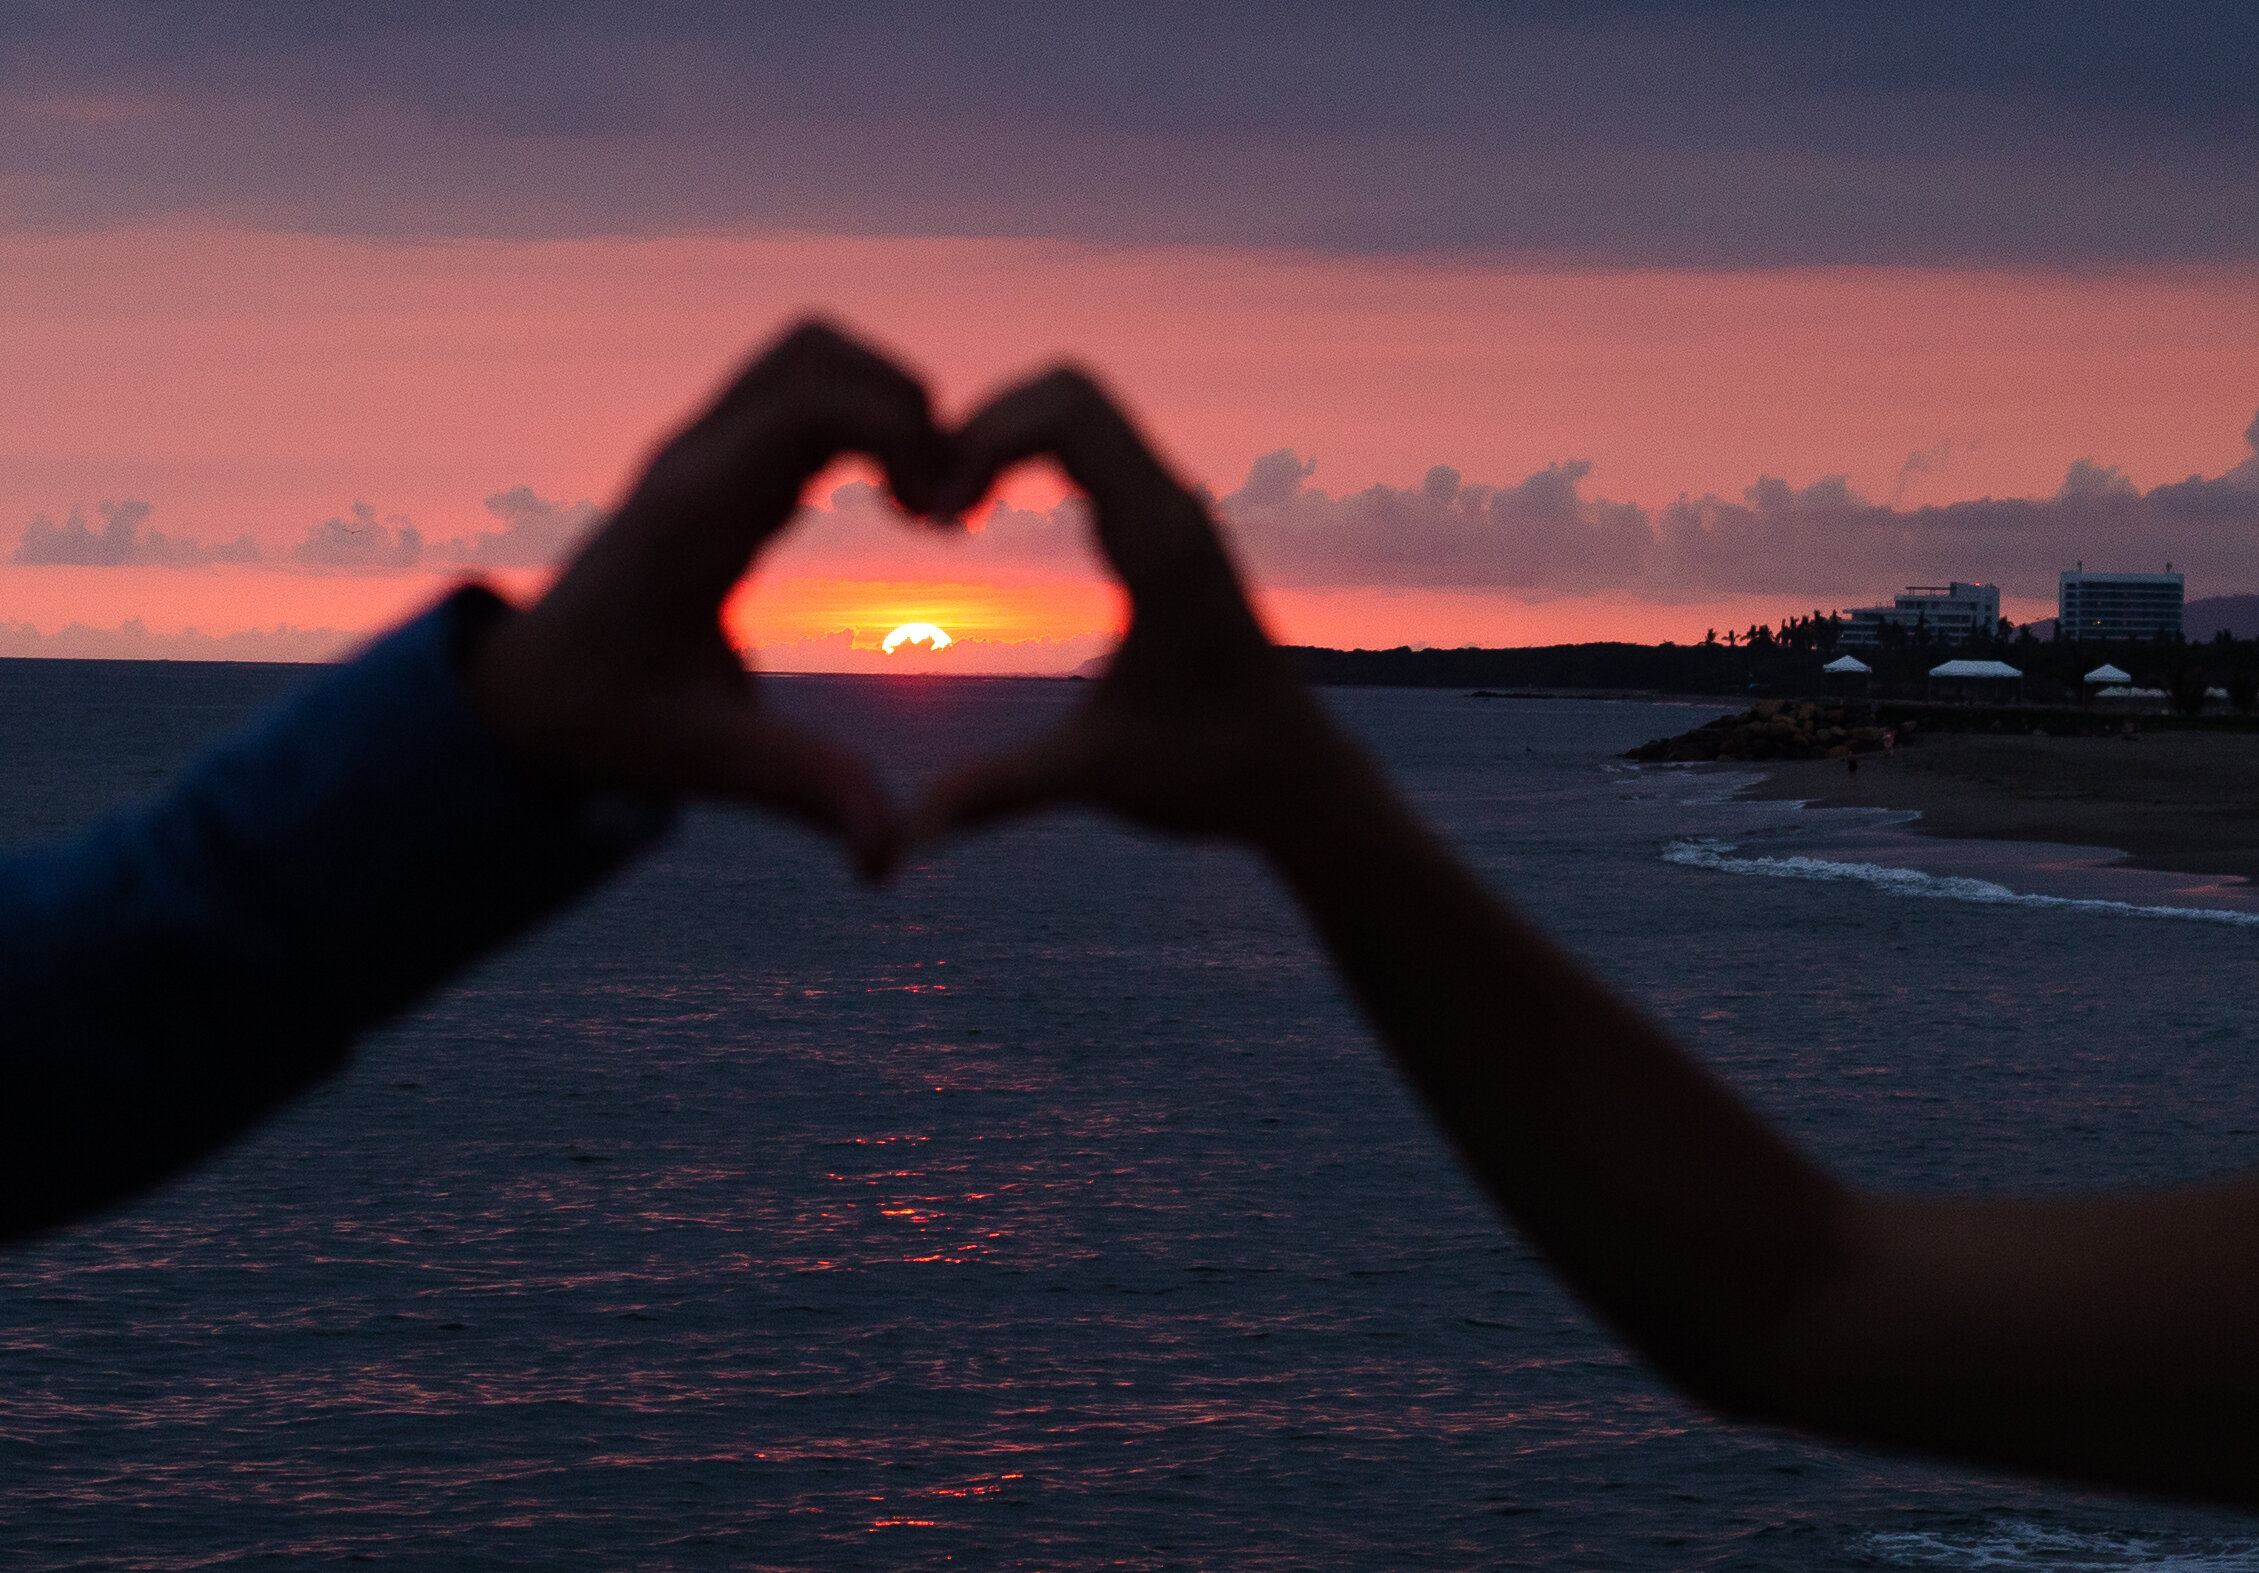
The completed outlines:
[[[901,857],[901,818],[863,759],[779,721],[736,712],[696,750],[691,791],[779,809],[847,843],[856,870],[879,879]]]

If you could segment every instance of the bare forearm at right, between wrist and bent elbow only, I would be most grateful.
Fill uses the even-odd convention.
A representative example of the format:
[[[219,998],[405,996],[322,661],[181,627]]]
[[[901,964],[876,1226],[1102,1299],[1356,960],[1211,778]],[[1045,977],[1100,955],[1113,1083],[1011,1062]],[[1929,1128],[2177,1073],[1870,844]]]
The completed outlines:
[[[1263,845],[1462,1157],[1649,1358],[1742,1406],[1848,1193],[1518,920],[1351,757]]]

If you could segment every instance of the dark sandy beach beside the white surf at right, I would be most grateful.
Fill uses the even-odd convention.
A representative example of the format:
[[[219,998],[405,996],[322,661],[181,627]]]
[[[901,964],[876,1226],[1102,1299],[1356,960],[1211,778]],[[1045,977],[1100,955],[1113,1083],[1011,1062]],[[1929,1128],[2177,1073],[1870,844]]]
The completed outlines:
[[[1748,766],[1742,766],[1748,768]],[[1931,735],[1895,757],[1767,764],[1751,798],[1920,809],[1916,829],[2119,848],[2137,868],[2259,879],[2259,735]]]

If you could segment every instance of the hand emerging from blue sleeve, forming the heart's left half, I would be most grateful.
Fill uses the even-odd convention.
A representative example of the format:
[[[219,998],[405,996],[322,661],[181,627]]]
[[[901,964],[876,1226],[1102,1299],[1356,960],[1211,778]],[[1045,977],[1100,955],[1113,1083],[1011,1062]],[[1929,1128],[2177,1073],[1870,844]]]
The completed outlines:
[[[470,660],[472,703],[526,764],[576,786],[734,798],[852,845],[876,875],[899,827],[870,768],[759,703],[721,608],[840,452],[931,509],[949,466],[926,391],[825,323],[795,328],[657,452],[533,610]]]

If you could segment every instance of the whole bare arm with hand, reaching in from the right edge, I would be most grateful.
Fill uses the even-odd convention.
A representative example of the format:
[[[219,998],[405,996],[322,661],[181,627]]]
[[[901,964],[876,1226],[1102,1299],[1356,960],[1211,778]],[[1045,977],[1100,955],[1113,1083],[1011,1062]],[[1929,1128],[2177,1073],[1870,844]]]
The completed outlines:
[[[1200,502],[1075,373],[976,416],[940,509],[1030,454],[1091,495],[1132,626],[1050,739],[924,832],[1044,802],[1258,848],[1484,1189],[1699,1399],[1846,1440],[2259,1501],[2259,1187],[1916,1202],[1794,1150],[1516,918],[1270,649]]]

